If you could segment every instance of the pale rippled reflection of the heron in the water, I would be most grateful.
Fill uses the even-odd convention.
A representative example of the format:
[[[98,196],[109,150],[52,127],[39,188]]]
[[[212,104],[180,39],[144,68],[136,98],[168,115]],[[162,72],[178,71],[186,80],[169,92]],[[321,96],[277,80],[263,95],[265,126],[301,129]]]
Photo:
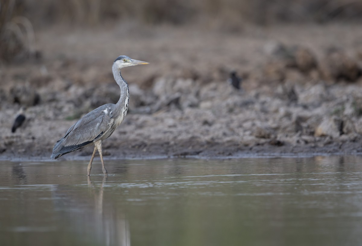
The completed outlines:
[[[112,196],[107,194],[107,179],[105,176],[100,184],[88,176],[86,186],[59,187],[55,194],[56,207],[67,230],[84,241],[95,245],[129,246],[129,223]]]

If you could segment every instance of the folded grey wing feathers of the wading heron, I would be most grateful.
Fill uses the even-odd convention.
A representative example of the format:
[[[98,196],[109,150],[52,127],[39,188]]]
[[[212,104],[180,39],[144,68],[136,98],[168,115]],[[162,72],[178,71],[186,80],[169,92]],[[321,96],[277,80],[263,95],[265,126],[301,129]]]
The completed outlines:
[[[111,107],[111,105],[103,105],[90,111],[78,120],[67,133],[56,141],[53,153],[50,158],[56,159],[63,154],[67,154],[77,149],[87,147],[109,130],[111,121],[109,115],[103,110]]]

